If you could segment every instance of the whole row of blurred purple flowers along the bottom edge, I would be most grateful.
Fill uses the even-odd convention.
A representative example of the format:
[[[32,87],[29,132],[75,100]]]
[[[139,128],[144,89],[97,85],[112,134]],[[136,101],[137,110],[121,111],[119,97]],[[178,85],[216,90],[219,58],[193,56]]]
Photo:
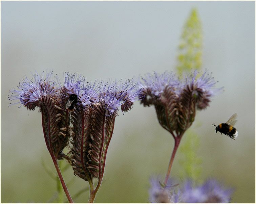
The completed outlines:
[[[193,186],[192,181],[188,180],[181,189],[175,189],[177,185],[173,179],[169,179],[166,186],[160,180],[159,176],[150,180],[151,203],[229,203],[233,193],[233,189],[224,188],[214,179],[198,186]]]

